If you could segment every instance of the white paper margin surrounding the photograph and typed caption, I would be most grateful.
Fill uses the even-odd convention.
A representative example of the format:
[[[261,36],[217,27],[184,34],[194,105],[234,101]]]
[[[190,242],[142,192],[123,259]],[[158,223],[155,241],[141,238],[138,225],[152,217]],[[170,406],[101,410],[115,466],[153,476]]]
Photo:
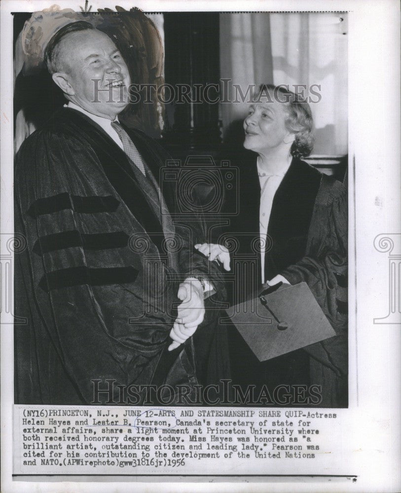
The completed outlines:
[[[349,22],[349,408],[343,413],[338,474],[344,470],[357,481],[322,478],[273,478],[269,491],[286,492],[397,492],[401,488],[400,457],[400,347],[401,325],[374,323],[385,317],[390,296],[389,255],[375,247],[378,235],[400,235],[400,11],[393,0],[356,1],[125,1],[144,11],[348,11]],[[1,22],[1,232],[13,232],[13,76],[10,12],[48,8],[52,1],[3,0]],[[92,11],[113,7],[110,1],[89,1]],[[84,1],[59,1],[60,8],[78,9]],[[4,252],[4,245],[1,245]],[[401,251],[394,252],[401,259]],[[352,289],[352,282],[355,282]],[[397,287],[397,286],[396,286]],[[398,287],[400,289],[400,286]],[[397,295],[397,291],[396,291]],[[398,291],[400,298],[401,293]],[[133,478],[109,483],[50,483],[12,481],[13,337],[7,314],[1,313],[1,491],[40,492],[152,491],[154,482]],[[301,462],[300,462],[301,466]],[[352,469],[352,471],[351,471]],[[63,480],[64,481],[64,480]],[[126,482],[127,481],[127,482]],[[156,479],[158,481],[158,479]],[[160,491],[203,492],[206,483],[176,483],[163,479]],[[238,492],[263,492],[266,484],[235,484]],[[250,484],[252,482],[252,484]],[[209,483],[208,491],[230,491],[226,479]]]

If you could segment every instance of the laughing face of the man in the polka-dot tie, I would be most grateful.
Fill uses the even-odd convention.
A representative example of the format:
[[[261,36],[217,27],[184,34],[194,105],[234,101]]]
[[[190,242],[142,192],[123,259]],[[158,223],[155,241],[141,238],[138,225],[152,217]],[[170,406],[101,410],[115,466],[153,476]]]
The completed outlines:
[[[60,56],[71,87],[69,99],[92,114],[114,120],[128,104],[131,80],[109,36],[96,30],[72,33],[61,41]]]

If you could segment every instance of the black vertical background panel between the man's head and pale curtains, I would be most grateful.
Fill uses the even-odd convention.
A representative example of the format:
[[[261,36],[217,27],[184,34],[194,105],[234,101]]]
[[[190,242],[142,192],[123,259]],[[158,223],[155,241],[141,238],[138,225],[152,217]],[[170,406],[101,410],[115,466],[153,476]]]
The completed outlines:
[[[164,139],[169,147],[213,152],[219,146],[219,13],[164,13],[165,81],[174,87],[175,101],[166,104]],[[202,88],[201,98],[196,85]],[[216,86],[211,86],[215,84]],[[180,86],[181,85],[181,86]],[[182,85],[192,88],[187,96]],[[215,103],[204,101],[204,88]],[[182,89],[185,91],[186,89]],[[167,99],[168,95],[166,95]]]

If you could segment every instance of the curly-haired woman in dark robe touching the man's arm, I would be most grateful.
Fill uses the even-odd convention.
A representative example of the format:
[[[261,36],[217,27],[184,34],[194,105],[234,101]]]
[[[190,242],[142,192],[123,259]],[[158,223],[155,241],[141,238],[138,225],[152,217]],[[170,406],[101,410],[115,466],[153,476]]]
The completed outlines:
[[[347,275],[346,190],[300,159],[312,150],[312,126],[305,101],[282,87],[260,88],[244,120],[244,147],[253,155],[251,162],[238,163],[238,214],[224,232],[234,241],[235,254],[230,257],[221,242],[195,248],[226,270],[234,261],[236,273],[241,259],[254,257],[255,279],[249,282],[248,275],[248,289],[236,286],[231,303],[243,301],[261,283],[306,282],[337,334],[260,363],[232,330],[234,383],[265,384],[269,390],[279,385],[321,385],[321,406],[346,406],[347,316],[342,292]]]

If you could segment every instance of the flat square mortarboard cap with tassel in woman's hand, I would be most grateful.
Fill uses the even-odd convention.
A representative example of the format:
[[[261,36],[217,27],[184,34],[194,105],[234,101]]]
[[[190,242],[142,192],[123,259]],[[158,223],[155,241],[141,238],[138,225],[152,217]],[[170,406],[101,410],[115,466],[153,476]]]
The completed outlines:
[[[335,336],[305,282],[272,286],[227,314],[259,361]]]

